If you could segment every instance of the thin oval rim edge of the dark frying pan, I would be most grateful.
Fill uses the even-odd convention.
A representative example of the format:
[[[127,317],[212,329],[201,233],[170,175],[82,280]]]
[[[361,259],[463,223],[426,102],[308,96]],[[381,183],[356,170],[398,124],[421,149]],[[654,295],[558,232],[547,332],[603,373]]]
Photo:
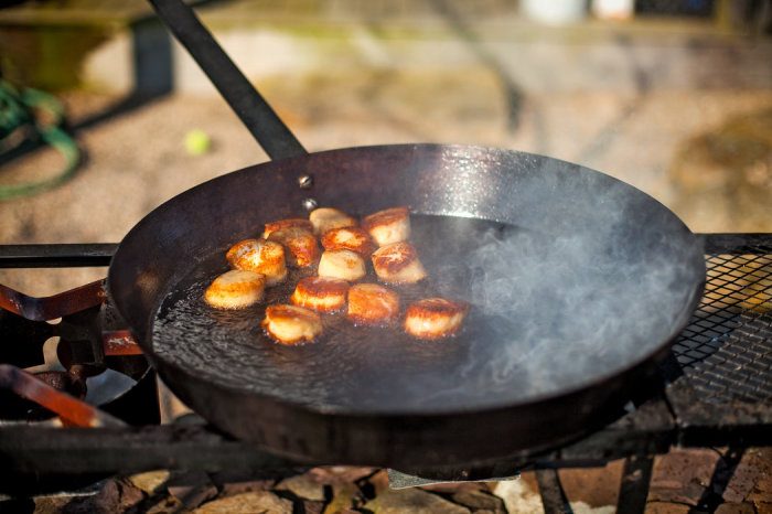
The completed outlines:
[[[127,233],[127,235],[122,238],[122,240],[118,245],[118,248],[114,255],[114,259],[110,263],[110,267],[108,270],[108,277],[107,277],[107,290],[108,290],[108,293],[110,295],[110,297],[114,299],[114,302],[116,303],[116,307],[118,308],[118,311],[121,312],[121,307],[118,304],[117,298],[111,293],[111,291],[114,289],[114,283],[117,280],[117,278],[116,278],[117,266],[115,265],[115,263],[120,261],[119,259],[122,255],[121,250],[126,247],[127,240],[130,240],[130,238],[133,235],[139,233],[142,229],[142,227],[144,226],[144,224],[149,223],[150,218],[154,218],[156,216],[160,215],[160,213],[164,212],[165,210],[172,208],[172,206],[175,202],[181,201],[181,199],[183,199],[190,194],[193,194],[195,191],[199,191],[200,189],[206,188],[207,184],[210,184],[212,182],[216,182],[218,180],[223,180],[224,178],[227,178],[227,176],[230,176],[234,174],[238,174],[238,173],[250,173],[250,172],[254,173],[256,171],[256,169],[259,170],[260,168],[264,168],[264,167],[266,167],[266,168],[271,167],[272,164],[275,164],[277,162],[291,163],[292,161],[304,161],[304,160],[308,160],[309,158],[314,159],[314,158],[318,158],[321,156],[331,156],[334,153],[349,153],[349,154],[351,154],[351,153],[355,153],[356,151],[363,151],[363,150],[366,151],[366,150],[374,150],[374,149],[377,149],[377,150],[382,150],[382,149],[383,150],[433,149],[436,151],[444,151],[444,150],[462,151],[462,150],[470,150],[471,149],[471,150],[474,150],[479,153],[494,153],[494,152],[502,153],[502,152],[505,152],[505,153],[512,153],[512,154],[526,156],[528,158],[535,158],[538,160],[547,159],[550,161],[561,162],[564,164],[567,164],[567,165],[577,167],[578,169],[582,170],[582,172],[590,172],[592,174],[601,174],[604,178],[608,178],[611,181],[623,185],[624,188],[632,189],[632,190],[636,191],[639,194],[645,195],[647,199],[655,202],[657,204],[658,208],[664,210],[665,212],[668,213],[669,216],[675,218],[675,221],[678,222],[676,225],[678,232],[680,232],[683,236],[690,238],[693,240],[693,243],[695,244],[695,250],[694,250],[695,253],[696,253],[697,247],[699,247],[699,254],[691,256],[691,257],[693,258],[699,257],[701,268],[705,269],[705,260],[703,257],[704,249],[703,249],[701,240],[699,238],[697,238],[697,236],[695,236],[695,234],[688,229],[688,227],[684,224],[684,222],[675,213],[673,213],[668,207],[666,207],[664,204],[662,204],[662,202],[654,199],[648,193],[641,191],[640,189],[635,188],[634,185],[625,183],[624,181],[621,181],[620,179],[608,175],[608,174],[602,173],[600,171],[597,171],[597,170],[593,170],[593,169],[590,169],[590,168],[587,168],[583,165],[579,165],[576,163],[571,163],[569,161],[565,161],[565,160],[560,160],[560,159],[556,159],[556,158],[551,158],[551,157],[543,156],[543,154],[538,154],[538,153],[524,152],[524,151],[512,150],[512,149],[500,149],[500,148],[492,148],[492,147],[484,147],[484,146],[475,146],[475,144],[442,144],[442,143],[416,143],[416,142],[395,143],[395,144],[373,144],[373,146],[346,147],[346,148],[323,150],[323,151],[319,151],[319,152],[312,152],[312,153],[309,153],[307,156],[298,156],[298,157],[291,157],[288,159],[282,159],[281,161],[267,161],[267,162],[262,162],[262,163],[253,164],[253,165],[242,168],[239,170],[235,170],[235,171],[218,175],[216,178],[210,179],[201,184],[197,184],[189,190],[185,190],[185,191],[176,194],[172,199],[170,199],[170,200],[165,201],[164,203],[162,203],[161,205],[157,206],[150,213],[146,214],[142,217],[142,219],[140,219],[140,222],[138,222]],[[421,214],[439,214],[439,213],[432,213],[430,211],[421,211]],[[464,213],[453,214],[453,213],[444,212],[441,214],[462,216],[462,217],[474,217],[474,218],[479,218],[479,219],[489,219],[489,221],[493,221],[493,222],[503,223],[502,219],[495,219],[495,218],[483,217],[483,216],[472,216],[472,215],[464,214]],[[490,405],[483,404],[479,407],[472,407],[469,409],[459,408],[459,407],[444,408],[444,409],[438,408],[438,409],[430,409],[429,411],[426,411],[426,413],[417,413],[412,409],[407,410],[407,411],[403,411],[403,410],[394,409],[394,408],[384,409],[383,407],[377,407],[377,406],[373,407],[373,408],[357,407],[355,410],[351,410],[351,409],[346,409],[345,407],[340,407],[340,406],[321,407],[320,408],[318,406],[310,405],[310,404],[303,404],[303,403],[293,401],[290,399],[278,398],[278,397],[271,396],[271,395],[262,393],[262,392],[248,390],[248,389],[230,386],[230,385],[224,384],[222,382],[212,381],[211,379],[212,375],[208,375],[208,374],[207,374],[208,376],[204,381],[207,383],[207,385],[217,387],[217,388],[223,389],[229,394],[248,395],[248,396],[251,396],[256,400],[259,400],[259,401],[279,404],[281,406],[286,406],[287,408],[297,409],[297,410],[304,411],[308,414],[319,415],[319,416],[324,416],[324,417],[336,417],[336,418],[367,419],[367,418],[387,417],[387,418],[394,418],[394,419],[405,419],[405,418],[436,419],[436,418],[444,418],[444,417],[450,417],[450,416],[479,415],[479,414],[483,414],[483,413],[496,413],[496,411],[506,411],[506,410],[511,410],[511,409],[523,408],[523,407],[527,407],[530,405],[549,403],[549,401],[558,399],[558,398],[571,396],[571,395],[578,394],[582,390],[600,386],[604,382],[608,382],[610,379],[613,379],[614,377],[618,377],[618,376],[621,376],[621,375],[624,375],[626,373],[632,372],[633,370],[635,370],[639,366],[643,365],[644,363],[648,362],[653,357],[656,357],[657,355],[662,354],[667,347],[669,347],[673,344],[673,342],[675,341],[677,335],[688,324],[688,322],[690,320],[690,313],[694,312],[694,310],[696,309],[697,304],[699,303],[699,301],[701,299],[701,296],[703,296],[701,293],[703,293],[704,287],[705,287],[705,279],[706,279],[705,272],[703,272],[701,279],[693,286],[693,290],[690,291],[691,298],[685,306],[685,309],[686,309],[685,312],[688,312],[689,315],[685,317],[684,320],[682,320],[679,323],[675,324],[674,325],[675,328],[672,331],[672,333],[666,339],[664,339],[663,342],[661,342],[657,345],[650,346],[648,351],[641,353],[637,356],[637,358],[629,360],[623,366],[613,367],[612,370],[607,371],[605,373],[593,374],[590,379],[579,382],[578,384],[572,385],[572,386],[562,387],[562,388],[559,388],[559,389],[554,390],[554,392],[546,392],[546,393],[542,393],[542,394],[532,395],[522,401],[511,401],[510,400],[506,403],[498,403],[498,404],[495,404],[495,403],[490,404]],[[172,282],[172,280],[170,280],[170,282]],[[170,286],[164,288],[163,291],[167,292],[169,290],[169,288],[171,288],[171,287],[173,287],[173,283],[170,283]],[[162,296],[160,296],[160,298],[156,299],[156,302],[154,302],[153,309],[152,309],[153,313],[158,312],[158,309],[160,308],[160,304],[161,304],[161,300],[162,300]],[[162,370],[169,367],[169,368],[172,368],[174,371],[174,373],[183,374],[185,376],[193,376],[194,375],[193,370],[190,370],[186,366],[182,366],[182,365],[178,364],[176,362],[170,362],[167,358],[162,358],[154,351],[153,344],[152,344],[153,320],[154,320],[154,315],[148,320],[148,326],[143,328],[146,331],[144,333],[147,333],[149,335],[149,340],[147,340],[147,341],[142,336],[137,336],[137,331],[135,330],[135,328],[129,326],[131,332],[135,334],[137,341],[139,342],[140,346],[142,347],[142,351],[146,352],[146,354],[150,358],[151,363],[153,364],[153,367],[161,371],[161,373],[163,373]],[[127,324],[130,324],[130,323],[127,322]],[[160,362],[161,365],[156,364],[157,362]]]

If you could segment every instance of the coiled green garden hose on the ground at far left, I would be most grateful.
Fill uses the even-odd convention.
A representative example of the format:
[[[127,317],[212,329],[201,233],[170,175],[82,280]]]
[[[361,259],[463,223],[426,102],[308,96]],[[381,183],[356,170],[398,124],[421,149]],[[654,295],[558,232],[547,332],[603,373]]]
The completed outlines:
[[[40,138],[64,158],[64,169],[49,179],[19,184],[0,184],[0,201],[30,196],[67,181],[81,162],[81,150],[62,128],[64,108],[52,95],[37,89],[17,89],[0,78],[0,141],[17,132]]]

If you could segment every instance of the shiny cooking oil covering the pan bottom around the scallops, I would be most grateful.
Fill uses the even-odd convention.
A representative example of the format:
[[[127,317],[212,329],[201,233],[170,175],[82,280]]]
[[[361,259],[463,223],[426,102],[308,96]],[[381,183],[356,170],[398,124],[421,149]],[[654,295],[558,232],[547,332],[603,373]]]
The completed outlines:
[[[314,342],[277,344],[260,328],[266,306],[287,303],[314,270],[292,270],[259,304],[215,310],[202,296],[227,270],[234,242],[224,242],[162,301],[154,350],[215,383],[321,410],[428,414],[527,401],[602,376],[658,344],[656,331],[688,303],[672,287],[679,268],[643,243],[620,248],[613,226],[554,237],[451,216],[411,223],[428,278],[394,287],[403,312],[419,298],[465,301],[455,336],[419,341],[400,324],[354,326],[336,313],[322,315]],[[368,268],[363,281],[377,281]]]

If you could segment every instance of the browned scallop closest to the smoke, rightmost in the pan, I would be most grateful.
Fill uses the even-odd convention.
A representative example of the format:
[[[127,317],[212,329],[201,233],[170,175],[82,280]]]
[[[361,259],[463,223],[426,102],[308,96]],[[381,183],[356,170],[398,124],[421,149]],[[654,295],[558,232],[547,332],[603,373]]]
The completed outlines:
[[[444,298],[427,298],[411,303],[405,313],[405,331],[418,339],[441,339],[461,328],[469,307]]]

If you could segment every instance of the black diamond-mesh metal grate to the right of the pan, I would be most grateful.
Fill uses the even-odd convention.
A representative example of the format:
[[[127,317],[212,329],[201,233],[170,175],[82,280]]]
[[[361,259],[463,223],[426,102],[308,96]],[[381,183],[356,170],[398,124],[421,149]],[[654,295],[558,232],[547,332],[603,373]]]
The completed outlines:
[[[673,346],[707,401],[772,398],[772,248],[748,251],[706,256],[705,295]]]

